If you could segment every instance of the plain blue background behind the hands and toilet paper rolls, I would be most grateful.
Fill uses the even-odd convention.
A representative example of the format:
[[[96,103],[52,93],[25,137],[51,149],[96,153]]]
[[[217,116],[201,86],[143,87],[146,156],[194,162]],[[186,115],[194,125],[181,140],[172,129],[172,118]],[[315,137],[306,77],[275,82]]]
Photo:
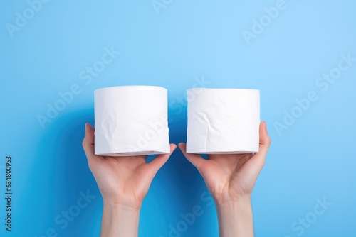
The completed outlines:
[[[0,190],[2,196],[11,155],[14,192],[11,233],[0,196],[1,236],[46,236],[51,228],[58,236],[98,236],[102,199],[81,147],[85,122],[94,123],[93,90],[167,88],[170,138],[178,143],[186,139],[185,90],[202,78],[205,87],[261,90],[261,119],[273,143],[253,191],[256,236],[356,236],[356,63],[328,89],[318,86],[342,54],[356,57],[355,1],[286,0],[249,44],[244,31],[253,32],[253,19],[277,1],[159,2],[165,4],[156,11],[150,0],[49,1],[31,15],[27,1],[1,1]],[[11,33],[16,13],[28,20]],[[83,80],[80,72],[112,47],[120,55],[90,83]],[[73,84],[80,93],[42,127],[38,115]],[[300,114],[295,99],[310,91],[318,100]],[[298,118],[278,133],[275,123],[293,109]],[[95,199],[62,229],[56,216],[87,190]],[[303,233],[293,229],[324,198],[332,203],[325,213]],[[180,235],[218,236],[209,200],[204,180],[175,151],[142,205],[140,236],[169,236],[169,225],[177,227],[195,205],[204,214]]]

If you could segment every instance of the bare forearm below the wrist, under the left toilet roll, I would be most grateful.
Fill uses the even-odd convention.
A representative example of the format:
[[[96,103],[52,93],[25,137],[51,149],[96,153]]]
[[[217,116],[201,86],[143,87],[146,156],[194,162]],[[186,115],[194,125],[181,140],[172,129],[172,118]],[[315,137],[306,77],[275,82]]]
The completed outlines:
[[[100,237],[137,237],[140,209],[105,204]]]

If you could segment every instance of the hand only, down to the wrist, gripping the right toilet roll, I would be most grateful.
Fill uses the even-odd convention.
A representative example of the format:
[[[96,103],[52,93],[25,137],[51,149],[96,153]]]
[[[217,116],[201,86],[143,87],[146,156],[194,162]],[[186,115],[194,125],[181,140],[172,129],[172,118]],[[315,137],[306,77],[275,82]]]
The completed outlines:
[[[184,143],[179,143],[179,148],[187,160],[199,170],[216,204],[222,204],[251,198],[270,144],[266,122],[262,122],[259,151],[253,155],[209,155],[208,160],[204,160],[200,155],[186,153]]]

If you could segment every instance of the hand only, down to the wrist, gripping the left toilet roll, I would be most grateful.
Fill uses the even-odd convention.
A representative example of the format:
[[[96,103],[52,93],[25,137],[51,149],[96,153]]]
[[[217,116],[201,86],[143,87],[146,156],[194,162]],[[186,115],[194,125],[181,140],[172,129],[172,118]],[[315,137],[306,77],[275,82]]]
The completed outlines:
[[[104,202],[129,209],[140,209],[150,184],[159,168],[167,162],[177,146],[171,144],[171,153],[157,155],[152,162],[146,156],[112,157],[94,153],[94,128],[85,124],[83,148],[88,165],[103,196]]]

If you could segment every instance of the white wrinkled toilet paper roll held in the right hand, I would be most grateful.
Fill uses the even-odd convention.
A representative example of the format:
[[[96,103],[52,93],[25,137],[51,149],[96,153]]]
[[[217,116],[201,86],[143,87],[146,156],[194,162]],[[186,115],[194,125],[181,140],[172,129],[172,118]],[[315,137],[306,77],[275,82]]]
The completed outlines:
[[[187,153],[258,152],[258,90],[194,88],[187,95]]]

